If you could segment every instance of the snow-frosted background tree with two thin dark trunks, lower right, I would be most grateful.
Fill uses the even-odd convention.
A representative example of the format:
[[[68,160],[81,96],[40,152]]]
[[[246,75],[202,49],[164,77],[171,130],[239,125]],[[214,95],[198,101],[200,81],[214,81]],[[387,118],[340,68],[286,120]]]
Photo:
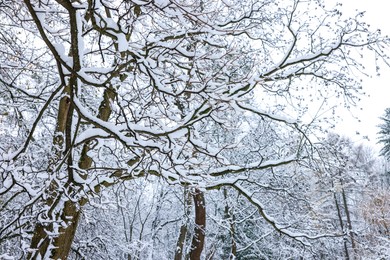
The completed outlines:
[[[345,259],[354,259],[357,254],[356,234],[361,230],[356,228],[358,213],[356,209],[364,193],[365,179],[372,172],[371,157],[365,158],[362,146],[355,147],[353,142],[337,134],[328,135],[319,151],[323,165],[319,172],[318,184],[322,190],[321,203],[327,203],[329,218],[338,223],[343,234],[343,254]],[[325,176],[326,177],[325,177]],[[327,198],[326,198],[327,197]]]

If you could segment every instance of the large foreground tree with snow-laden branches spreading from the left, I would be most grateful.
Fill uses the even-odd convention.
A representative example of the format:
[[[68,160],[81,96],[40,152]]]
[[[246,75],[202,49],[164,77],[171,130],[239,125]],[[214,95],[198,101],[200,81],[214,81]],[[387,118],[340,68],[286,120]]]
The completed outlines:
[[[66,259],[85,205],[150,176],[188,188],[192,259],[206,193],[223,186],[310,239],[267,213],[252,180],[304,160],[305,98],[354,99],[354,52],[386,58],[388,44],[321,1],[2,1],[0,17],[0,243],[27,258]],[[240,153],[256,121],[280,138]]]

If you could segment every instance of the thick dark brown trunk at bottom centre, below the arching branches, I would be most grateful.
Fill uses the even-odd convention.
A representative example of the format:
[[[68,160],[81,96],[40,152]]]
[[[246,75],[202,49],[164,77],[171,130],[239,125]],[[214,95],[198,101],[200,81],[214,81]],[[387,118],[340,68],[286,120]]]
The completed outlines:
[[[192,237],[190,259],[199,260],[205,241],[206,205],[204,194],[199,189],[195,189],[193,199],[195,206],[195,229]]]

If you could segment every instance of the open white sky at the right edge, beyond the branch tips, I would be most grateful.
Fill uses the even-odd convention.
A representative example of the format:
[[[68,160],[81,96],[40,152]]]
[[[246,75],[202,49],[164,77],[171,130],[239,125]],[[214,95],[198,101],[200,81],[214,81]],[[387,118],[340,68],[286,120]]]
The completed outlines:
[[[336,0],[325,0],[331,6]],[[365,11],[364,20],[371,25],[372,29],[381,29],[383,35],[390,35],[390,1],[389,0],[339,0],[343,4],[342,11],[353,15],[356,9]],[[389,49],[390,52],[390,49]],[[365,64],[367,68],[375,68],[374,60],[371,58]],[[380,149],[377,145],[377,125],[381,123],[379,117],[384,113],[385,108],[390,107],[390,68],[385,67],[381,70],[381,76],[375,76],[363,81],[363,90],[369,95],[362,97],[362,101],[357,107],[350,111],[340,109],[342,122],[336,127],[336,132],[347,135],[355,141],[364,140],[364,136],[369,138],[369,143]],[[362,108],[362,110],[360,109]],[[359,120],[354,118],[358,117]],[[359,132],[360,134],[357,134]],[[366,141],[363,141],[366,142]]]

